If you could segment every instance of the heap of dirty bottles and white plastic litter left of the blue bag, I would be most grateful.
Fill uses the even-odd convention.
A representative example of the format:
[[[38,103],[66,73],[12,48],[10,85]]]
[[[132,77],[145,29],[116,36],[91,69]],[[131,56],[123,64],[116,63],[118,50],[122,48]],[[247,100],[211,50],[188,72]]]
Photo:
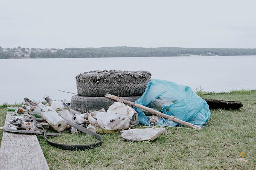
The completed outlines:
[[[81,130],[89,134],[88,130],[90,130],[90,134],[94,136],[97,133],[115,133],[121,131],[121,138],[130,141],[154,140],[161,134],[166,133],[165,128],[157,127],[131,129],[139,124],[138,113],[122,102],[114,102],[107,111],[102,108],[99,111],[91,113],[79,113],[71,109],[70,103],[67,101],[52,100],[49,96],[44,96],[44,99],[48,102],[46,105],[24,98],[27,105],[22,105],[22,108],[18,109],[8,108],[7,111],[12,111],[15,114],[19,113],[19,115],[27,113],[26,116],[34,117],[34,119],[22,119],[23,116],[12,115],[14,119],[4,129],[17,133],[35,133],[41,135],[46,133],[44,130],[49,130],[50,128],[58,132],[46,133],[49,136],[58,136],[60,134],[59,132],[64,130],[70,130],[73,134],[81,133]],[[40,123],[37,125],[38,121]],[[84,128],[87,131],[84,131]]]

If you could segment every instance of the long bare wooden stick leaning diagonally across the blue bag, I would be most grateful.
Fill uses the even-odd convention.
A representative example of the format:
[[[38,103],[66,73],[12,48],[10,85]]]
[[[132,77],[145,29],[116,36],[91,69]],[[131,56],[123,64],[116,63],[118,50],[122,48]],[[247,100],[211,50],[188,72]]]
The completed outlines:
[[[166,119],[169,119],[169,120],[172,120],[173,122],[177,122],[177,123],[180,123],[182,125],[186,125],[186,126],[189,126],[189,127],[192,127],[194,129],[199,129],[201,130],[201,127],[200,126],[197,126],[197,125],[194,125],[192,123],[189,123],[189,122],[185,122],[183,120],[180,120],[180,119],[177,119],[175,117],[172,117],[172,116],[169,116],[169,115],[166,115],[164,113],[161,113],[159,111],[155,111],[151,108],[148,108],[148,107],[145,107],[143,105],[140,105],[140,104],[137,104],[137,103],[134,103],[134,102],[130,102],[130,101],[127,101],[127,100],[124,100],[124,99],[121,99],[120,97],[118,96],[114,96],[112,94],[105,94],[105,97],[107,98],[110,98],[110,99],[114,99],[116,100],[117,102],[123,102],[124,104],[126,105],[131,105],[131,106],[135,106],[137,108],[141,108],[141,109],[144,109],[145,111],[149,111],[150,113],[153,113],[153,114],[156,114],[158,116],[163,116],[164,118]]]

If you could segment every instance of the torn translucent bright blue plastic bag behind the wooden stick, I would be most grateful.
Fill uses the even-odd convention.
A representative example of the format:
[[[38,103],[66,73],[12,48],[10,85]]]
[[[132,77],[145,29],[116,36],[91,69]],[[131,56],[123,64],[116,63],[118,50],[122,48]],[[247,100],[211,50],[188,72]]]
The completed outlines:
[[[152,99],[175,101],[171,105],[163,105],[162,112],[200,127],[204,127],[211,115],[209,106],[204,99],[195,94],[190,87],[177,85],[174,82],[152,79],[148,82],[143,95],[135,103],[151,107],[150,102]],[[169,111],[166,111],[167,108]],[[150,125],[149,119],[143,111],[136,107],[134,109],[139,115],[139,122],[144,125]],[[168,119],[166,119],[166,122],[169,126],[178,125],[178,123]],[[162,118],[157,121],[157,124],[166,125]]]

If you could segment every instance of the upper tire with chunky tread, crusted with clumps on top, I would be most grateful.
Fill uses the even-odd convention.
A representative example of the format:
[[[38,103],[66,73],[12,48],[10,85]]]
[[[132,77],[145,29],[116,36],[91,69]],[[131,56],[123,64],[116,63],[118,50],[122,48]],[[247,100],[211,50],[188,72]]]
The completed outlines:
[[[148,71],[90,71],[76,76],[79,96],[141,96],[150,81]]]

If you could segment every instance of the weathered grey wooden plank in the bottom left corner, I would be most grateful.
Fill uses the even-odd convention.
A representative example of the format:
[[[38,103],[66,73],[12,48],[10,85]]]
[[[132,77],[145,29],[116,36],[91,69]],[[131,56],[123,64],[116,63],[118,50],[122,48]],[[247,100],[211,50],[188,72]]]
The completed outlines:
[[[6,114],[6,122],[12,119]],[[4,130],[0,147],[0,170],[49,170],[36,135],[9,133]]]

